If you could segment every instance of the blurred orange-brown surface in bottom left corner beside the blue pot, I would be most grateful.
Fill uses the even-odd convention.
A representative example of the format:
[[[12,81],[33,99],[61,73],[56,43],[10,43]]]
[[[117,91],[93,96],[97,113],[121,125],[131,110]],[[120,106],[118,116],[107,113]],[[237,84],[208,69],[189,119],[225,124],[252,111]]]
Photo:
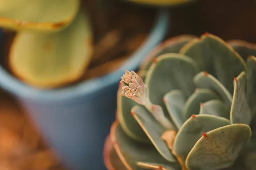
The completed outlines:
[[[0,170],[64,170],[20,105],[0,91]]]

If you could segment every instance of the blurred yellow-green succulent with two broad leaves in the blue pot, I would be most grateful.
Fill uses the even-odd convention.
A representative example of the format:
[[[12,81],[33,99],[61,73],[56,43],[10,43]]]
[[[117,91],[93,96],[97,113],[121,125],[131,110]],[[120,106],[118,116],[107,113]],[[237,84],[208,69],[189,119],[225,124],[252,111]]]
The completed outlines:
[[[2,0],[0,27],[17,32],[9,67],[29,85],[76,81],[92,58],[93,30],[81,0]]]

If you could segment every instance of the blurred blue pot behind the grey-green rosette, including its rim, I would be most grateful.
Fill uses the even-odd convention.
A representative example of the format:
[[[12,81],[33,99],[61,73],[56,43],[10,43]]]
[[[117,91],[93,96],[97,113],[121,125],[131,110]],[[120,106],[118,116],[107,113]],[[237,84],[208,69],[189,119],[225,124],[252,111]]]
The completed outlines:
[[[105,170],[102,152],[115,120],[120,77],[126,69],[138,68],[148,52],[163,40],[168,24],[168,11],[161,9],[145,43],[121,68],[104,77],[58,90],[39,90],[0,67],[0,86],[17,97],[67,168]]]

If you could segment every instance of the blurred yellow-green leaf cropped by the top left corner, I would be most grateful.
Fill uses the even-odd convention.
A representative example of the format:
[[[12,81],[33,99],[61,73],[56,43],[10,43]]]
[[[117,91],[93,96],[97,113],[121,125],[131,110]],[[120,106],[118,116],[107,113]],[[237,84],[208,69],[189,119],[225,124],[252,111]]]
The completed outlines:
[[[1,0],[0,26],[14,30],[54,31],[67,26],[80,0]]]

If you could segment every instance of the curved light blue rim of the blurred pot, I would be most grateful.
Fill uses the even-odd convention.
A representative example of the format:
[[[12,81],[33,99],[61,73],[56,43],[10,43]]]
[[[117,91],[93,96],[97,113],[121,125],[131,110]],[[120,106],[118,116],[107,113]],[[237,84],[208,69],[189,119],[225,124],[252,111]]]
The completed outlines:
[[[108,90],[110,86],[119,83],[119,80],[121,79],[121,76],[124,74],[125,70],[136,70],[143,59],[150,53],[151,49],[163,40],[168,30],[168,26],[168,9],[158,8],[153,28],[143,44],[140,45],[140,47],[124,62],[119,69],[105,76],[87,80],[77,85],[72,85],[65,88],[39,89],[22,82],[20,79],[8,73],[0,65],[0,86],[15,96],[32,100],[39,99],[41,102],[64,102],[86,95],[95,95],[101,93],[101,89]]]

